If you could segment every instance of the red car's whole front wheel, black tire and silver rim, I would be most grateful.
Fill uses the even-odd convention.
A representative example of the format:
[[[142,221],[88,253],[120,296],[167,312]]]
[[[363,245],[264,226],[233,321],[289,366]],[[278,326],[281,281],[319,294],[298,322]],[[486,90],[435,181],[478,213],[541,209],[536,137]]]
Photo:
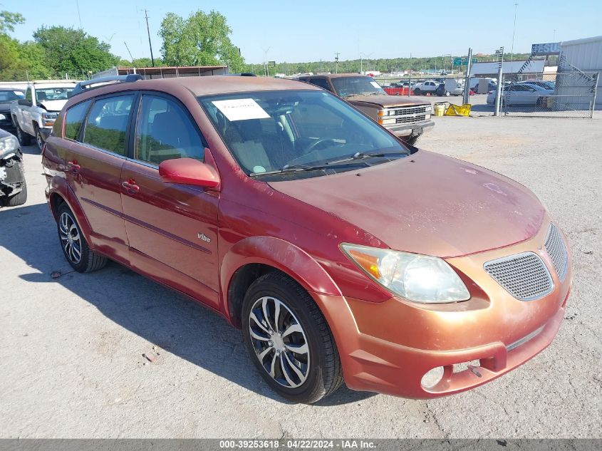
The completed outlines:
[[[316,403],[343,384],[341,361],[330,328],[311,296],[289,276],[271,272],[249,286],[242,306],[242,324],[251,360],[266,383],[283,398]],[[291,328],[294,331],[287,333]]]

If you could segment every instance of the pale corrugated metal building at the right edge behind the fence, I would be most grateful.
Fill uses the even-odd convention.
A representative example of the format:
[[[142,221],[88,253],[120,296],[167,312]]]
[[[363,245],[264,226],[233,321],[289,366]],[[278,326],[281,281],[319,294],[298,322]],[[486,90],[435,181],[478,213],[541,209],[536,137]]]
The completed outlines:
[[[595,98],[596,110],[602,110],[602,36],[561,43],[558,73],[574,76],[571,83],[557,76],[555,95],[573,96],[583,109],[591,108]]]

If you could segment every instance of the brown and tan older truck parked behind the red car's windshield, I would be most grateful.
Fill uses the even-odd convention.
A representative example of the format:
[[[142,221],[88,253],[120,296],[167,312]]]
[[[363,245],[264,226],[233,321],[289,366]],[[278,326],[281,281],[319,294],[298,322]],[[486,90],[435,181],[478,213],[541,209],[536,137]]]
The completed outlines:
[[[299,77],[299,81],[319,86],[347,100],[395,136],[412,145],[422,136],[422,133],[435,125],[431,119],[430,102],[388,95],[368,76],[338,73],[302,76]]]

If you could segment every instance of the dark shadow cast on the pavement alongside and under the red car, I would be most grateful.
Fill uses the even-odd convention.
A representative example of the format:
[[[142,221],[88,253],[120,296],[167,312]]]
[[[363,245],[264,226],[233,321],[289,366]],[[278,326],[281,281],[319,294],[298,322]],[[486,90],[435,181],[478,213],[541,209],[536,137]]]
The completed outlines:
[[[91,274],[73,272],[46,204],[1,209],[0,221],[4,229],[0,247],[31,267],[31,272],[20,277],[38,284],[32,291],[43,296],[44,284],[61,284],[111,321],[165,351],[255,393],[289,403],[264,383],[244,347],[242,333],[217,313],[113,262]],[[54,271],[61,272],[58,279],[51,277]],[[316,405],[356,403],[373,395],[343,385]]]

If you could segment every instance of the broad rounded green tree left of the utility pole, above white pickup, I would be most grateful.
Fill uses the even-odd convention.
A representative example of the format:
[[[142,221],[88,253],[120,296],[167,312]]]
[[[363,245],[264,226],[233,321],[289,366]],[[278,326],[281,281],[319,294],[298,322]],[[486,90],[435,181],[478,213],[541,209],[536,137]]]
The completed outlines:
[[[108,43],[85,31],[64,26],[42,26],[33,38],[46,52],[46,61],[55,73],[97,72],[115,66],[119,58],[110,53]]]

